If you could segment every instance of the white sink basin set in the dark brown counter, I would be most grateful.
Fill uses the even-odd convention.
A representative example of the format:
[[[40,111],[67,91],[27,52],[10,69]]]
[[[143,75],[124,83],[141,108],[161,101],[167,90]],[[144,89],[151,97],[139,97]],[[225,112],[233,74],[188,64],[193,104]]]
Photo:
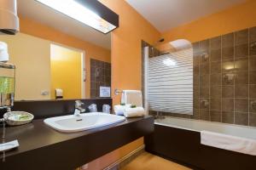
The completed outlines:
[[[124,116],[102,112],[84,113],[81,116],[55,116],[44,119],[44,123],[57,131],[73,133],[125,121]]]

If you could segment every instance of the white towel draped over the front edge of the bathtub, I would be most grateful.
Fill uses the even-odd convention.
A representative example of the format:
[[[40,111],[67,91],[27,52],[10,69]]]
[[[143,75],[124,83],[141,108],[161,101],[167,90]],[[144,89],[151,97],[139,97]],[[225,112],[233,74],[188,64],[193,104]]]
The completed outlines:
[[[201,131],[201,144],[256,156],[256,140]]]

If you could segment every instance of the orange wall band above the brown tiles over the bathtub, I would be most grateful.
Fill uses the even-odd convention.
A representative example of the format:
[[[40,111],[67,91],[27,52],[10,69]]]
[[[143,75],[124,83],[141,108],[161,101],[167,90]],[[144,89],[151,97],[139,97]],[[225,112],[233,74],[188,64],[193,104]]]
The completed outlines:
[[[208,15],[183,26],[177,26],[162,34],[165,42],[185,38],[196,42],[209,37],[216,37],[238,31],[247,27],[256,26],[256,1],[235,5],[216,14]]]

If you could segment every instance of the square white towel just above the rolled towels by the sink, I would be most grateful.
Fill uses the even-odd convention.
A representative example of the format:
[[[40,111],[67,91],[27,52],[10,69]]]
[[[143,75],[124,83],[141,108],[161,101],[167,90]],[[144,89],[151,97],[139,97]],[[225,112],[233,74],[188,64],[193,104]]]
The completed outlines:
[[[121,103],[143,106],[143,94],[140,90],[123,90]]]

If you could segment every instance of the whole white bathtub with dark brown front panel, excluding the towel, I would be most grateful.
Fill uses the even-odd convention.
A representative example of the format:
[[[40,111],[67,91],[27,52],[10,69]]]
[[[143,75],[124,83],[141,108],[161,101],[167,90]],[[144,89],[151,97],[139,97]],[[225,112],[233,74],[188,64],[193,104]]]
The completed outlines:
[[[166,116],[154,121],[145,150],[193,169],[256,169],[256,156],[201,144],[201,131],[256,139],[256,128]]]

